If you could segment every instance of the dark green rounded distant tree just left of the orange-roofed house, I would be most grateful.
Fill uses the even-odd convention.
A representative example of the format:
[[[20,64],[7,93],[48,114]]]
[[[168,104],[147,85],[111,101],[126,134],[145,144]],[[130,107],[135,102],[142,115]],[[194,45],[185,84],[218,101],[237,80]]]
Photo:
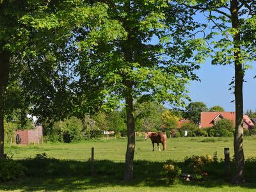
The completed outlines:
[[[201,120],[201,112],[208,111],[207,106],[204,102],[191,102],[186,107],[184,117],[188,118],[196,125],[199,125]]]

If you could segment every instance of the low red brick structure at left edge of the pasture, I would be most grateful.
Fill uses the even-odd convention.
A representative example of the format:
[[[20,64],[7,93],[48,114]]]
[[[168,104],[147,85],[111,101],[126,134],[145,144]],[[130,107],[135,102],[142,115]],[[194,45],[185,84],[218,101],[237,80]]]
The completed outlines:
[[[36,126],[35,129],[15,131],[15,143],[17,135],[20,137],[20,144],[42,143],[43,127]]]

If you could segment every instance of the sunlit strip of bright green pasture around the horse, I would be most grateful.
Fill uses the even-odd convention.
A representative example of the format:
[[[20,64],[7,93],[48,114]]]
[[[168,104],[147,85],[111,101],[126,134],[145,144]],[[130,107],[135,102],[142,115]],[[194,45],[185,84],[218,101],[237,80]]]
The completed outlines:
[[[102,139],[83,141],[79,143],[44,143],[42,145],[5,145],[6,154],[14,159],[33,158],[36,154],[45,152],[47,157],[56,159],[88,160],[91,157],[91,149],[94,147],[95,159],[108,159],[111,161],[124,161],[127,140]],[[244,138],[245,157],[256,156],[256,138]],[[217,152],[219,158],[223,158],[225,147],[230,148],[230,157],[234,155],[233,138],[168,138],[165,152],[159,152],[155,144],[152,152],[150,140],[137,138],[134,154],[135,160],[166,161],[168,159],[183,160],[186,156],[213,155]],[[161,150],[163,149],[160,144]]]

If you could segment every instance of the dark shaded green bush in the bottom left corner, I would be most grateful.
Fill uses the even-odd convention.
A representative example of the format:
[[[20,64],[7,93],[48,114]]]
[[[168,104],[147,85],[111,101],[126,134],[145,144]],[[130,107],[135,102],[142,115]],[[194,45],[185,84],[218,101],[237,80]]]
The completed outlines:
[[[0,159],[0,182],[19,179],[24,175],[25,167],[11,158]]]

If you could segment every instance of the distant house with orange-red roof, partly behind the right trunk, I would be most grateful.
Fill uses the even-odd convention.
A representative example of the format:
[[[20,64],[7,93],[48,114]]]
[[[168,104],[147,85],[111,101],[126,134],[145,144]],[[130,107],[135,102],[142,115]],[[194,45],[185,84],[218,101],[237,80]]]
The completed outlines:
[[[201,113],[201,128],[212,127],[215,122],[223,118],[232,120],[236,124],[236,112],[202,112]],[[253,129],[254,124],[248,115],[243,116],[244,129]]]

